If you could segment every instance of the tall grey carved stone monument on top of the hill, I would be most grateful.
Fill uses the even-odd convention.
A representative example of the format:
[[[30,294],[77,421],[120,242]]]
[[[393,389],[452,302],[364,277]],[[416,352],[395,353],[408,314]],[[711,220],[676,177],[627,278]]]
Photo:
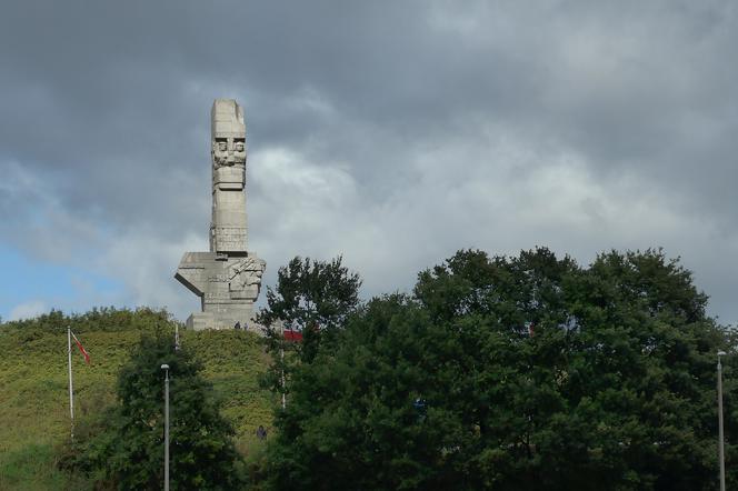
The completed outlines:
[[[184,252],[174,278],[200,297],[190,329],[252,327],[267,263],[247,250],[246,124],[233,99],[216,99],[210,113],[212,221],[210,252]]]

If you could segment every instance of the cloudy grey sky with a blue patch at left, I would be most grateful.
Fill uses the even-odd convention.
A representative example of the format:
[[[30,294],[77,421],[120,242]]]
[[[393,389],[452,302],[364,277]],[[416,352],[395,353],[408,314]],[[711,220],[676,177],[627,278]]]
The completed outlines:
[[[249,249],[412,288],[459,249],[664,248],[738,321],[738,7],[10,1],[0,317],[199,300],[210,107],[245,108]]]

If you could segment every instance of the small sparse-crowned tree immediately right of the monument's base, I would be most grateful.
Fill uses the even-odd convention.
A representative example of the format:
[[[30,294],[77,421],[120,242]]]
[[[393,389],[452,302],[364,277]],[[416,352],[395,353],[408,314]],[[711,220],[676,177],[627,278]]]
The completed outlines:
[[[277,273],[277,287],[267,289],[267,307],[258,322],[267,327],[267,347],[275,363],[268,384],[277,391],[289,380],[295,363],[310,363],[320,347],[330,349],[349,314],[359,305],[359,274],[350,272],[339,255],[330,261],[293,258]],[[300,331],[301,343],[286,343],[281,327]],[[280,353],[288,351],[287,357]]]

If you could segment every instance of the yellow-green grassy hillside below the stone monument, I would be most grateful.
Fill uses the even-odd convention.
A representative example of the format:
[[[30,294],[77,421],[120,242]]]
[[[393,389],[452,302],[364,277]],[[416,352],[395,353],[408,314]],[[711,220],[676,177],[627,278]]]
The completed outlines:
[[[91,357],[72,345],[76,415],[80,422],[114,403],[120,367],[141,334],[172,324],[166,312],[102,309],[66,317],[0,324],[0,489],[84,489],[56,470],[56,451],[69,438],[67,325]],[[203,375],[223,401],[243,453],[258,447],[255,430],[269,427],[276,399],[259,388],[267,357],[259,337],[243,331],[180,330],[180,339],[205,365]]]

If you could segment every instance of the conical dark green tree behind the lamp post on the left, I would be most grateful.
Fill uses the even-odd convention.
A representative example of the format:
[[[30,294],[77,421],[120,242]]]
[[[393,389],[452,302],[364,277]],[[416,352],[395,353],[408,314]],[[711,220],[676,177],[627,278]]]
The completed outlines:
[[[101,433],[81,442],[78,464],[119,489],[161,488],[163,373],[170,367],[170,483],[172,490],[229,490],[242,484],[231,425],[187,349],[173,350],[169,332],[144,334],[118,377],[119,404]]]

